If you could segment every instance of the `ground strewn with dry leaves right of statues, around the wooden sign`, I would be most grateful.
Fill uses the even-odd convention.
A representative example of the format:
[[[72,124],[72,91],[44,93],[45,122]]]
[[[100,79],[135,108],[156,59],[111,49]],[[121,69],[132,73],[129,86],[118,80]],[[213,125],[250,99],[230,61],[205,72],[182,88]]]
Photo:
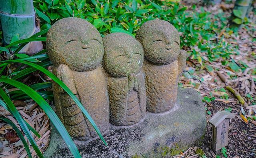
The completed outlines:
[[[190,2],[190,5],[191,2]],[[253,4],[255,6],[255,3]],[[220,6],[208,7],[207,10],[212,14],[218,14],[220,8],[225,10],[225,15],[230,16],[232,4],[222,2]],[[221,64],[221,58],[215,62],[208,62],[208,65],[214,68],[209,71],[206,68],[198,70],[200,65],[195,60],[188,60],[186,70],[195,70],[192,78],[183,76],[181,83],[186,87],[193,87],[200,92],[202,99],[206,100],[205,107],[209,120],[219,110],[227,110],[236,114],[236,117],[230,123],[228,146],[226,154],[234,158],[255,158],[256,157],[256,121],[255,121],[255,53],[256,53],[256,32],[255,32],[255,13],[249,15],[252,19],[252,25],[248,25],[239,30],[237,35],[225,35],[224,40],[231,43],[233,47],[238,48],[239,54],[231,55],[229,61],[234,62],[244,71],[235,72],[229,66]],[[225,32],[225,31],[224,31]],[[246,67],[244,67],[243,62]],[[206,62],[207,63],[207,62]],[[224,75],[226,82],[220,78],[218,73]],[[203,81],[201,79],[204,79]],[[242,105],[238,99],[226,90],[225,86],[231,86],[241,94],[247,104]],[[227,96],[226,96],[226,94]],[[205,98],[206,97],[206,98]],[[215,98],[215,100],[214,100]],[[210,101],[207,102],[207,100]],[[214,101],[212,101],[214,100]],[[248,105],[249,107],[246,107]],[[245,119],[241,117],[245,116]],[[248,122],[247,122],[248,121]],[[208,157],[215,158],[216,155],[209,149],[212,139],[212,126],[207,125],[204,143],[201,146],[191,147],[185,152],[184,157]],[[196,150],[202,149],[204,156],[199,156]],[[180,157],[180,156],[177,156]],[[220,157],[224,157],[223,154]]]

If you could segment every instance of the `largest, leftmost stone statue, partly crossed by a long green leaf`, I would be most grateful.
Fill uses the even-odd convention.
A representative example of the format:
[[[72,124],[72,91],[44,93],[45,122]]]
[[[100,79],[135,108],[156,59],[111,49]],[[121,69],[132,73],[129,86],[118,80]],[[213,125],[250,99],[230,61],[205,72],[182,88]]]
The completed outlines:
[[[46,46],[53,73],[77,96],[100,132],[109,127],[108,91],[101,61],[104,54],[98,30],[86,20],[64,18],[52,25]],[[53,83],[56,111],[69,134],[79,140],[97,136],[80,108]]]

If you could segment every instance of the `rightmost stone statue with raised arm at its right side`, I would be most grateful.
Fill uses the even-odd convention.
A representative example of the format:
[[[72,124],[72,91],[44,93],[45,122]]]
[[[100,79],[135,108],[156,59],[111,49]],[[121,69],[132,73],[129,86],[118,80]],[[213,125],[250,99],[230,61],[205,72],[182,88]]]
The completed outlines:
[[[167,21],[150,20],[140,27],[136,39],[144,48],[147,110],[166,112],[174,107],[179,74],[186,65],[178,31]]]

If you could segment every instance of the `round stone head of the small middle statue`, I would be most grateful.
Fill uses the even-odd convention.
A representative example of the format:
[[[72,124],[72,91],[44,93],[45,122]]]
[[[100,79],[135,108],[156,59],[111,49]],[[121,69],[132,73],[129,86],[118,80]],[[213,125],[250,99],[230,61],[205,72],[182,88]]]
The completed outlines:
[[[103,43],[103,65],[108,74],[124,77],[141,70],[143,48],[135,38],[124,33],[113,33],[104,37]]]

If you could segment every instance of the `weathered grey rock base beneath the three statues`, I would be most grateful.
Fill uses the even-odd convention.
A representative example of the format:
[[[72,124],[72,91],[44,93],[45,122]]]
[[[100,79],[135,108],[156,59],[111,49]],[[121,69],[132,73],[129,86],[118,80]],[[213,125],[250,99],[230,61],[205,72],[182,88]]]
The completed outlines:
[[[75,141],[83,158],[129,158],[134,155],[162,157],[162,152],[182,150],[200,142],[206,129],[206,112],[200,95],[193,89],[178,89],[175,108],[149,113],[139,124],[111,126],[104,139]],[[171,150],[171,152],[174,150]],[[166,155],[169,156],[169,155]],[[56,130],[52,130],[45,158],[70,158],[72,154]]]

